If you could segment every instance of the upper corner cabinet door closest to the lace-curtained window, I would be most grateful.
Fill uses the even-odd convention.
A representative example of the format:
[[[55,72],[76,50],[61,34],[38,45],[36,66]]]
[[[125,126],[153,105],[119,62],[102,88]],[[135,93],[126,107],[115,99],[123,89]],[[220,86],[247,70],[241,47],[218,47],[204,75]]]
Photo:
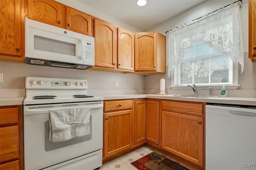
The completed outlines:
[[[135,71],[156,71],[156,33],[135,34]]]

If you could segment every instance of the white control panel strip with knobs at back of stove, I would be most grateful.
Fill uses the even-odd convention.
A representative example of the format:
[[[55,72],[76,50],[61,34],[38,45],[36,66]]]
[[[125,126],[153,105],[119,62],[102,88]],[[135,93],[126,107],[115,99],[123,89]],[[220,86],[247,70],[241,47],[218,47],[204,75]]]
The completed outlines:
[[[26,77],[26,89],[87,89],[86,80]]]

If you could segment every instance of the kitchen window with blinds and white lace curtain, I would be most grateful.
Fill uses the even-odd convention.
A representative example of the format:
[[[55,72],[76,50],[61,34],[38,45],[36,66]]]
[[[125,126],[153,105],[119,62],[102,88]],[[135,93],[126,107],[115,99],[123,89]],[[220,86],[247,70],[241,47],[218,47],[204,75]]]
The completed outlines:
[[[236,2],[169,32],[168,74],[172,88],[238,85],[244,70],[240,6]]]

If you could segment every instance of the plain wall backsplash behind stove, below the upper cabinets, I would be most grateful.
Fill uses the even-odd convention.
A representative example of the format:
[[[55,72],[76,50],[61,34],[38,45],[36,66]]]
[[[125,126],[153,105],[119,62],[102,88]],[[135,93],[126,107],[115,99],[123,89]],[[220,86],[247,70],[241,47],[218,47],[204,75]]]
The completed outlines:
[[[24,63],[0,61],[0,72],[4,73],[4,82],[0,88],[25,88],[26,76],[85,79],[88,82],[88,94],[143,94],[144,76],[102,72],[93,70],[75,70],[48,66],[35,66]],[[114,86],[118,81],[118,87]]]

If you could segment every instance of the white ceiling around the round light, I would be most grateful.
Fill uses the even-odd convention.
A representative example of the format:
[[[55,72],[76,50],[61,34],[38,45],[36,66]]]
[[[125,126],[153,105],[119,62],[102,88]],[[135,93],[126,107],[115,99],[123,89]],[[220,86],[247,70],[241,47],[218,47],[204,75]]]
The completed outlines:
[[[205,0],[147,0],[138,6],[136,0],[78,0],[87,6],[147,31]]]

